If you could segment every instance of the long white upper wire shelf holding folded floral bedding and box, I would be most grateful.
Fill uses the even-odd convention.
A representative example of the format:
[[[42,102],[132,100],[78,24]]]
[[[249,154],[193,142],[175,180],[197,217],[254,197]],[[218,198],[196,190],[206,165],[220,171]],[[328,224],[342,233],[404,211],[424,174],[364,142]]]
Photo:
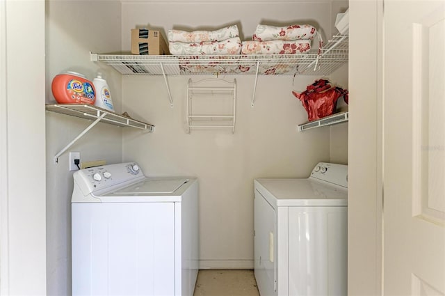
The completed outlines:
[[[91,61],[111,65],[123,75],[163,75],[170,105],[168,75],[255,75],[252,105],[259,75],[329,75],[348,62],[348,36],[333,36],[307,54],[154,56],[90,54]]]

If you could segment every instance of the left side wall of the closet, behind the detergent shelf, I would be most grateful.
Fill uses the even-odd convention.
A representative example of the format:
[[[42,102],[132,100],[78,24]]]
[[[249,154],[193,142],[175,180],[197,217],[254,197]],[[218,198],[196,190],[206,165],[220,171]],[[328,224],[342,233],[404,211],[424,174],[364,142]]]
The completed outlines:
[[[119,1],[46,1],[46,101],[55,103],[51,81],[55,75],[74,70],[89,79],[100,71],[107,80],[116,111],[122,110],[122,77],[99,63],[89,52],[120,49]],[[41,103],[43,104],[43,102]],[[41,106],[42,107],[42,106]],[[91,121],[47,111],[47,294],[71,294],[71,194],[69,151],[79,151],[81,161],[105,159],[122,162],[122,128],[99,123],[72,148],[53,158]]]

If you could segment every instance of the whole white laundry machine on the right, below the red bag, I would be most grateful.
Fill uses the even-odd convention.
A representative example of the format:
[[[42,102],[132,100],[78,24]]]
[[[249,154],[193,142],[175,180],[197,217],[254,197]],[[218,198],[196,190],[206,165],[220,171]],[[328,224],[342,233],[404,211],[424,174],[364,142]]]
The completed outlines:
[[[254,180],[254,274],[261,295],[347,295],[348,166]]]

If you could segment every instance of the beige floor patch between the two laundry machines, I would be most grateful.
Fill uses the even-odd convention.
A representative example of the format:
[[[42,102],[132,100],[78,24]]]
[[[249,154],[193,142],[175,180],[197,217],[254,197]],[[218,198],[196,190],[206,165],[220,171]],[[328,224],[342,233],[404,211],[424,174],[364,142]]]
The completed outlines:
[[[259,296],[253,270],[200,270],[193,296]]]

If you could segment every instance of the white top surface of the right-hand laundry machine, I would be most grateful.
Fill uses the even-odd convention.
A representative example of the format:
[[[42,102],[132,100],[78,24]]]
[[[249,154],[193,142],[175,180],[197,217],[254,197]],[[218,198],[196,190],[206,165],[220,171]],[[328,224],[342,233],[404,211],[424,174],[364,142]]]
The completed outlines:
[[[260,193],[273,198],[277,206],[348,205],[348,189],[313,178],[266,178],[257,182]]]

